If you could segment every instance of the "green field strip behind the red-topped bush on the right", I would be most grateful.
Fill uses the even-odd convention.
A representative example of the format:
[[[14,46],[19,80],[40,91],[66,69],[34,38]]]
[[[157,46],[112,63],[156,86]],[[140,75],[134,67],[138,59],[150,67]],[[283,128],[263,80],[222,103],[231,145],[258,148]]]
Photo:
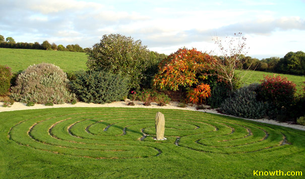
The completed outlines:
[[[240,72],[240,71],[237,71]],[[277,73],[269,73],[269,72],[260,72],[260,71],[249,71],[248,73],[244,73],[245,76],[242,78],[242,82],[245,85],[249,85],[251,83],[260,83],[260,80],[264,79],[264,75],[267,76],[273,76],[274,74],[280,75],[280,76],[284,76],[287,77],[287,79],[289,81],[292,81],[293,83],[296,84],[296,89],[297,91],[301,91],[302,90],[302,86],[304,86],[305,84],[303,82],[305,82],[305,76],[296,76],[296,75],[287,75],[287,74],[277,74]],[[241,75],[242,76],[242,75]]]

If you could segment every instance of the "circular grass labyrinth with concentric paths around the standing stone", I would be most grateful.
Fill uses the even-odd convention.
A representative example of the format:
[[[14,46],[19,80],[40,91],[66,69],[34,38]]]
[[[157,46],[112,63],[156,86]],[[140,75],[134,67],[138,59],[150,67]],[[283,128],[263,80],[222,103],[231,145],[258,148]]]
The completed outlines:
[[[164,141],[154,140],[157,111],[165,115]],[[39,155],[95,161],[160,160],[180,151],[223,157],[282,156],[290,151],[289,155],[304,156],[302,131],[197,111],[66,108],[19,112],[6,125],[1,119],[6,140],[20,150],[40,151]]]

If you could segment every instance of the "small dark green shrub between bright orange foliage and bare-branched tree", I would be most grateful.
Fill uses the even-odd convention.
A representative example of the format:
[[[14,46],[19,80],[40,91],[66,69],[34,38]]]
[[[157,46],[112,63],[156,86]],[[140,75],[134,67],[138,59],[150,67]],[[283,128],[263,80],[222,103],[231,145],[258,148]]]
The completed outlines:
[[[230,88],[226,84],[219,83],[212,88],[211,96],[208,98],[208,104],[211,105],[211,108],[218,108],[229,97],[230,91]]]

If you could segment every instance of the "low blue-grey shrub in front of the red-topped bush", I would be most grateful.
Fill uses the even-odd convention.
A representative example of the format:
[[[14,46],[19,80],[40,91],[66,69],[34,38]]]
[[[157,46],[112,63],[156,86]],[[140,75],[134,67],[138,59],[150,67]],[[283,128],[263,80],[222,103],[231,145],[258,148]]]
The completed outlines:
[[[221,111],[245,118],[257,119],[264,117],[267,112],[268,103],[257,100],[259,86],[259,84],[251,84],[237,89],[220,105]]]

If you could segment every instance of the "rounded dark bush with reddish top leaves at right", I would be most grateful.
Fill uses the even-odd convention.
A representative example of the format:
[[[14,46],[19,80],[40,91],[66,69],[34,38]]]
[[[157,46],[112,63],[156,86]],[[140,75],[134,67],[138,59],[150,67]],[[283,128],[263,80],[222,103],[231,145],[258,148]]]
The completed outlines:
[[[272,103],[278,109],[287,108],[292,104],[296,91],[295,84],[288,81],[286,77],[267,75],[261,82],[262,84],[258,90],[261,100]]]

